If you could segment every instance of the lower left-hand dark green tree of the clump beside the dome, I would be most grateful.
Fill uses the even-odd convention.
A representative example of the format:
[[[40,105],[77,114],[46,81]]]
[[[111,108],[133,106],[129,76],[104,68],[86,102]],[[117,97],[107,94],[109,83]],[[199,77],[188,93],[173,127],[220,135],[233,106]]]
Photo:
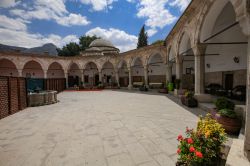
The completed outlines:
[[[59,56],[76,56],[80,53],[80,47],[77,43],[71,42],[62,49],[58,48],[57,52]]]

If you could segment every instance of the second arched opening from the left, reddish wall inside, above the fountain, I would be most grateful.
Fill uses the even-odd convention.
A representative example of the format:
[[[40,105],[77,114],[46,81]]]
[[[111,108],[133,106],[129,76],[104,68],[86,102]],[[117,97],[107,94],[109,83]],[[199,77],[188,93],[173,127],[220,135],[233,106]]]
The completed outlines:
[[[44,78],[45,70],[37,60],[26,61],[23,65],[22,76],[28,78]]]

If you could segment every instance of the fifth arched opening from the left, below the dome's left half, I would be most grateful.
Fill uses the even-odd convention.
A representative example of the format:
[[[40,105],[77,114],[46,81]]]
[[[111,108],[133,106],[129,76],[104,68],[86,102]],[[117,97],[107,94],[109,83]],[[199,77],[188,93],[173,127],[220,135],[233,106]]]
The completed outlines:
[[[85,87],[94,87],[99,84],[99,71],[94,62],[89,62],[84,69],[84,85]]]

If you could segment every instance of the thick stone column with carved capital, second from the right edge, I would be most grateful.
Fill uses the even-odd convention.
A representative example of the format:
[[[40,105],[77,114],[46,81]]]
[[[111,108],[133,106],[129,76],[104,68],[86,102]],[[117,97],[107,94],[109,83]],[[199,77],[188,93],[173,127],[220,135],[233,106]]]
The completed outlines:
[[[195,66],[195,94],[204,94],[205,92],[205,46],[197,45],[193,48],[194,66]]]

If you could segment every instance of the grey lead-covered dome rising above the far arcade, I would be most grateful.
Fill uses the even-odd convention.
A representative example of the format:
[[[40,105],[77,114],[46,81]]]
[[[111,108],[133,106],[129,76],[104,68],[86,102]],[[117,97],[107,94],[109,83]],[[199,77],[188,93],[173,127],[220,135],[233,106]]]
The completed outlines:
[[[89,45],[89,48],[86,49],[87,53],[93,53],[95,55],[110,55],[118,54],[120,50],[116,48],[110,41],[105,39],[96,39],[92,41]]]

